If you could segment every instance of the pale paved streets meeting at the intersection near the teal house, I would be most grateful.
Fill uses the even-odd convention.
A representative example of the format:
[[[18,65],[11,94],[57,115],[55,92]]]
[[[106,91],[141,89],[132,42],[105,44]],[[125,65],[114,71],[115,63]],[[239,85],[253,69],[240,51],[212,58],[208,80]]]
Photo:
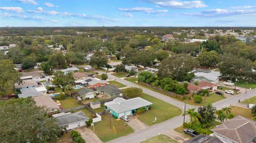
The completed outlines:
[[[158,92],[155,92],[153,90],[150,90],[150,89],[147,89],[147,88],[144,88],[144,87],[141,87],[139,85],[136,85],[132,82],[129,82],[129,81],[126,81],[124,79],[120,79],[118,77],[115,77],[114,75],[111,75],[110,73],[108,73],[108,77],[110,79],[113,79],[113,80],[116,80],[124,85],[127,85],[129,87],[139,87],[143,90],[143,92],[145,92],[146,94],[150,95],[150,96],[154,96],[158,99],[161,99],[167,103],[170,103],[174,106],[178,106],[179,108],[183,108],[184,106],[184,103],[183,102],[180,102],[179,100],[175,100],[171,97],[167,97],[163,94],[160,94]],[[250,91],[248,91],[246,94],[239,94],[237,96],[231,96],[229,98],[226,98],[226,99],[223,99],[223,100],[220,100],[219,102],[216,102],[216,103],[213,103],[213,106],[217,107],[217,110],[218,109],[221,109],[223,107],[228,107],[230,105],[234,105],[236,103],[238,103],[238,100],[244,100],[245,98],[250,98],[250,97],[253,97],[256,95],[256,89],[252,89]],[[188,108],[196,108],[196,106],[193,106],[193,105],[186,105],[186,109]],[[186,116],[186,121],[189,119],[188,116]],[[178,128],[182,125],[183,123],[183,116],[182,115],[179,115],[179,116],[176,116],[176,117],[173,117],[172,119],[170,120],[167,120],[167,121],[164,121],[162,123],[159,123],[159,124],[156,124],[156,125],[153,125],[149,128],[146,128],[144,130],[140,130],[140,131],[137,131],[137,132],[134,132],[132,134],[129,134],[128,136],[124,136],[124,137],[120,137],[120,138],[117,138],[117,139],[114,139],[114,140],[111,140],[109,142],[111,143],[123,143],[123,142],[141,142],[143,140],[147,140],[151,137],[154,137],[154,136],[157,136],[158,134],[160,133],[164,133],[166,131],[169,131],[169,130],[172,130],[172,129],[175,129],[175,128]]]

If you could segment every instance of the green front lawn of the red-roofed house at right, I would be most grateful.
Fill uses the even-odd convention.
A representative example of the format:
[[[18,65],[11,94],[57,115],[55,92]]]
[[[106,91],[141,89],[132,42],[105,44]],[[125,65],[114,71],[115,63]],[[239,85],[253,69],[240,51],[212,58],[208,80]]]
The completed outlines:
[[[190,105],[201,106],[201,105],[206,105],[208,103],[212,104],[214,102],[218,102],[219,100],[225,99],[226,97],[220,96],[220,95],[215,94],[215,93],[211,93],[206,98],[205,97],[202,97],[202,98],[203,98],[203,101],[201,103],[195,103],[194,100],[193,100],[193,97],[191,97],[190,100],[184,100],[183,102],[186,102]]]

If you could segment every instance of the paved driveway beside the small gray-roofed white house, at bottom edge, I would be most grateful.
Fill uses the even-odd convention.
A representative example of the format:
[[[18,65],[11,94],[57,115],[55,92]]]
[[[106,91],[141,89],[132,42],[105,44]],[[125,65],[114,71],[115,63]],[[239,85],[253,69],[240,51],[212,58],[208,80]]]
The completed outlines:
[[[86,143],[102,143],[98,136],[87,127],[76,128],[74,130],[81,134]]]

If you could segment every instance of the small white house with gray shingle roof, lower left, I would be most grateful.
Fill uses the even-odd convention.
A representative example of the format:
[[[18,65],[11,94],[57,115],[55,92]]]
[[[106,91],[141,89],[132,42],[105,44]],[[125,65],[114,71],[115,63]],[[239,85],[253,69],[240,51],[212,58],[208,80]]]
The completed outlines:
[[[71,130],[85,124],[85,121],[89,120],[82,111],[76,113],[60,113],[52,115],[55,117],[55,121],[59,124],[60,128],[66,128],[67,130]]]

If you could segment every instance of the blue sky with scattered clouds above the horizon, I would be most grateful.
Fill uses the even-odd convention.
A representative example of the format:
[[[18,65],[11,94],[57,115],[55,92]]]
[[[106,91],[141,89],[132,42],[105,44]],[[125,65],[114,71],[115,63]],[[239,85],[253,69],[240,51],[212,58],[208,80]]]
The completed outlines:
[[[255,27],[256,0],[0,0],[0,27]]]

